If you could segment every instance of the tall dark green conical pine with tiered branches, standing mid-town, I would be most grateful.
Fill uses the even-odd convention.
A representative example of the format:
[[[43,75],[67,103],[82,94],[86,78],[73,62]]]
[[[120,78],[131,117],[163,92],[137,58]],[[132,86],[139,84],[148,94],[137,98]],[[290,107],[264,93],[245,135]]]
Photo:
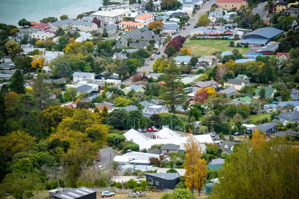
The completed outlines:
[[[181,80],[181,69],[176,66],[173,58],[169,59],[167,68],[164,69],[165,84],[161,87],[160,99],[167,101],[170,111],[174,113],[177,105],[183,104],[187,100],[187,95],[183,90]]]

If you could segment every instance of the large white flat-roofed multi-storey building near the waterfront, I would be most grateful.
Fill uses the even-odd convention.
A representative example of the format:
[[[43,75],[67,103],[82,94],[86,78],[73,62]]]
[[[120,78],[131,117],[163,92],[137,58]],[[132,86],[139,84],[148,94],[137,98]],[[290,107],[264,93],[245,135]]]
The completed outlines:
[[[96,11],[90,14],[91,17],[97,17],[101,20],[101,26],[107,26],[109,23],[118,24],[124,20],[124,13],[113,12],[113,11]]]

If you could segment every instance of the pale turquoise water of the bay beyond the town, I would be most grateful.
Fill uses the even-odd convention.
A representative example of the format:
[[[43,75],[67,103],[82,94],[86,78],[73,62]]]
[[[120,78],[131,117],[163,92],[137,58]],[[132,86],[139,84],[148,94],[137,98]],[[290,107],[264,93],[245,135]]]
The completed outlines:
[[[101,0],[0,0],[0,23],[17,25],[25,18],[39,22],[42,18],[66,14],[70,18],[97,10]]]

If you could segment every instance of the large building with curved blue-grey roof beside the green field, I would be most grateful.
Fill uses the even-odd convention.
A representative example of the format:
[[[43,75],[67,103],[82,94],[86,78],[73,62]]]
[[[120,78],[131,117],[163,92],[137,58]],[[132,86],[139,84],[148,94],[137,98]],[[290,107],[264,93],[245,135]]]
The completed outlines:
[[[243,39],[239,41],[242,45],[249,43],[249,46],[266,46],[268,42],[275,40],[277,35],[283,34],[284,31],[272,28],[263,27],[247,33]]]

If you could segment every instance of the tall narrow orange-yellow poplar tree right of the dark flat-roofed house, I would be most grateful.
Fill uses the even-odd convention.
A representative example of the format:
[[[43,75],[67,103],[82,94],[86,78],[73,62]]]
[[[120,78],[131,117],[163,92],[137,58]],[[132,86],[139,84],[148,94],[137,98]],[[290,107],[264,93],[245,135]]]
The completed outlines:
[[[201,145],[191,133],[192,130],[189,129],[186,143],[184,143],[186,151],[186,162],[184,163],[185,185],[192,194],[194,189],[197,189],[200,196],[200,190],[208,175],[208,168],[206,161],[201,159]]]

